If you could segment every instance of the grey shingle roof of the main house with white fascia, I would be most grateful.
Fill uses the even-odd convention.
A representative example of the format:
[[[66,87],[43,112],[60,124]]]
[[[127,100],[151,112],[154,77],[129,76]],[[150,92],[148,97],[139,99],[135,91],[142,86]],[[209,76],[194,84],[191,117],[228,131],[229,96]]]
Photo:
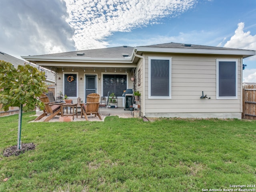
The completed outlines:
[[[222,54],[222,55],[241,55],[243,58],[255,55],[254,50],[243,50],[225,47],[202,46],[182,43],[165,43],[148,46],[119,46],[92,50],[79,50],[72,52],[22,56],[22,58],[37,61],[58,61],[58,62],[101,62],[101,63],[136,63],[138,59],[134,56],[141,55],[142,52],[168,52],[184,54]]]

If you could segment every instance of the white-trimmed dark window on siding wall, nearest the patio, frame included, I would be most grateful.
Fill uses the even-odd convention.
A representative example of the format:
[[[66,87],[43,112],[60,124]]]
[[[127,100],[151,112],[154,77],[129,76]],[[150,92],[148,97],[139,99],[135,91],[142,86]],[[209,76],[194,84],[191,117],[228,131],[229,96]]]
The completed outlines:
[[[172,58],[148,58],[148,98],[171,98]]]

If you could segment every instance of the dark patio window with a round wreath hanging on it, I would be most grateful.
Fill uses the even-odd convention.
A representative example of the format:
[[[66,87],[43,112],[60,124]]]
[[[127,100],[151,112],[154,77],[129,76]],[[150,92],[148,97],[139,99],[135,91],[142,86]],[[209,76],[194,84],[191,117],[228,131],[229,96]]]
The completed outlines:
[[[63,74],[64,78],[64,95],[67,95],[71,98],[76,98],[78,95],[78,80],[77,80],[78,74],[74,73],[66,73]]]

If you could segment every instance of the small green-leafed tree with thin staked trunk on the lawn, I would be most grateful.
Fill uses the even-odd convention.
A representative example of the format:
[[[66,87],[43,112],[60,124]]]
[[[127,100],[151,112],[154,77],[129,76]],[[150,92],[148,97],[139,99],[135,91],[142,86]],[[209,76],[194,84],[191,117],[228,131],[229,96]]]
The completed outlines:
[[[47,91],[44,72],[26,64],[16,69],[11,63],[0,61],[0,104],[8,111],[9,107],[19,107],[18,144],[21,149],[22,111],[28,112],[43,103],[37,99]]]

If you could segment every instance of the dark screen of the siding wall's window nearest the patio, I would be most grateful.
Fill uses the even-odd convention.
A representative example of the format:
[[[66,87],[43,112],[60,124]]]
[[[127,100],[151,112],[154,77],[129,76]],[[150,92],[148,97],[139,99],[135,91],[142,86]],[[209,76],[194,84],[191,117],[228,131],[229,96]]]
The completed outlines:
[[[170,96],[170,60],[150,60],[150,96]]]

